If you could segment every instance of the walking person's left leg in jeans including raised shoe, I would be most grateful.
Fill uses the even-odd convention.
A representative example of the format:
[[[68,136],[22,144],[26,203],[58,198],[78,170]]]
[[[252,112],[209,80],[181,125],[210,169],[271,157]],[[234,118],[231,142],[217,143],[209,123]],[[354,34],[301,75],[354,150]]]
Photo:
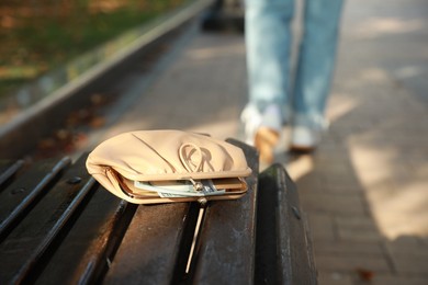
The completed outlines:
[[[293,0],[246,1],[249,102],[243,112],[247,141],[271,160],[288,103]],[[266,156],[264,156],[266,155]]]

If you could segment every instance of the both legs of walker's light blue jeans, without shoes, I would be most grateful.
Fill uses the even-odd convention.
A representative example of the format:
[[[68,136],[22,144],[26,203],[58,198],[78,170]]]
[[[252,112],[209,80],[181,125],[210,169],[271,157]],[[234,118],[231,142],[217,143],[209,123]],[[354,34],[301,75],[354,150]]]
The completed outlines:
[[[246,0],[249,105],[281,106],[293,125],[323,128],[342,0],[306,0],[304,33],[291,82],[293,0]]]

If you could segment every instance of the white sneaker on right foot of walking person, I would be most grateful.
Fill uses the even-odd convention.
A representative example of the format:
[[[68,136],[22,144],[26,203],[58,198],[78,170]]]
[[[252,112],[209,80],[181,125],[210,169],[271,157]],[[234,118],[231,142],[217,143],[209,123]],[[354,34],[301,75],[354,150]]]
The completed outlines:
[[[309,127],[297,126],[292,130],[291,151],[311,152],[320,141],[320,130]]]

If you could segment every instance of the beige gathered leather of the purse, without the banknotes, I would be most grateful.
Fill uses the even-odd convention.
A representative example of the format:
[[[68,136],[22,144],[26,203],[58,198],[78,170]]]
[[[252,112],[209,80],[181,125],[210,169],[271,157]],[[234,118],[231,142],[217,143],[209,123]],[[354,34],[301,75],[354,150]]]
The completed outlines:
[[[127,192],[138,192],[134,181],[213,180],[221,184],[218,189],[243,191],[246,184],[234,179],[251,173],[240,148],[182,130],[138,130],[110,138],[88,156],[87,169],[106,190],[127,201]]]

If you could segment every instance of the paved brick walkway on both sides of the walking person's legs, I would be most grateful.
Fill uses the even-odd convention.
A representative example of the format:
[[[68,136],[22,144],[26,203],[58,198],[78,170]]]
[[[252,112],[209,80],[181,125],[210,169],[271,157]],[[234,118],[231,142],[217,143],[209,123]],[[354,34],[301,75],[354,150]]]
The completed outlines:
[[[313,156],[278,149],[322,285],[428,284],[427,15],[425,0],[348,0],[330,132]],[[196,32],[105,137],[181,128],[241,138],[245,73],[241,35]]]

